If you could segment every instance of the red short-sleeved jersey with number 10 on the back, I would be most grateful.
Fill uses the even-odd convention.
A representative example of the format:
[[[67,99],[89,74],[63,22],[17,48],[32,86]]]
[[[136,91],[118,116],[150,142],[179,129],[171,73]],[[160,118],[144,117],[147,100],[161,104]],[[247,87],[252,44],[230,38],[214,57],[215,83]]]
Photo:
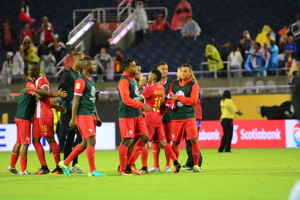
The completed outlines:
[[[146,125],[160,126],[162,125],[162,118],[160,114],[160,103],[164,96],[164,88],[160,84],[151,84],[147,86],[140,94],[146,104],[152,109],[150,112],[145,111]]]

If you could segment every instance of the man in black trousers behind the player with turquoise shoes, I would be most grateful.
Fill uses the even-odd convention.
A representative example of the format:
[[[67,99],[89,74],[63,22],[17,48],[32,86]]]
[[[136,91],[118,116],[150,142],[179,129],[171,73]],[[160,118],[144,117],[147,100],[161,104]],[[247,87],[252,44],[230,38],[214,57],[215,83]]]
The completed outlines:
[[[75,53],[72,55],[73,65],[71,68],[66,69],[62,77],[59,81],[58,88],[65,90],[67,92],[67,96],[61,99],[61,104],[66,108],[66,113],[61,114],[61,130],[63,132],[66,131],[65,134],[62,134],[62,137],[65,138],[64,148],[63,148],[63,159],[66,159],[67,156],[71,153],[72,147],[76,146],[78,143],[82,141],[81,134],[76,126],[71,128],[69,126],[69,122],[72,117],[72,102],[74,97],[74,82],[78,78],[81,69],[81,60],[83,59],[83,55],[80,53]],[[74,141],[76,135],[76,139]],[[64,141],[64,140],[63,140]],[[63,146],[63,144],[62,144]],[[78,164],[78,157],[75,157],[72,161],[72,167],[70,168],[70,173],[83,173],[84,170],[80,168]]]

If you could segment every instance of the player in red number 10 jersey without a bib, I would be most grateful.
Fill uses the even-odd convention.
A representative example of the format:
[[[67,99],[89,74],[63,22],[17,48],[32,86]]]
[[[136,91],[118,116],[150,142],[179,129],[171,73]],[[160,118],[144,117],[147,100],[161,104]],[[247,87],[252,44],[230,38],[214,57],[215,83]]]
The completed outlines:
[[[161,120],[162,115],[160,110],[160,103],[164,96],[164,88],[162,85],[158,83],[160,79],[161,79],[161,72],[158,69],[152,69],[148,75],[148,82],[150,83],[150,85],[143,90],[143,92],[139,96],[139,101],[144,101],[146,102],[146,104],[148,104],[151,107],[150,112],[147,111],[145,112],[146,115],[145,123],[147,125],[149,141],[153,143],[152,144],[152,155],[154,159],[153,168],[159,169],[159,163],[158,163],[158,157],[160,151],[159,144],[158,144],[159,142],[163,146],[168,156],[173,160],[174,163],[173,172],[178,173],[179,169],[181,168],[181,165],[178,162],[172,150],[171,144],[167,143],[164,137],[164,129]],[[157,146],[157,148],[153,149],[154,144]],[[141,172],[142,171],[143,168],[141,169]]]

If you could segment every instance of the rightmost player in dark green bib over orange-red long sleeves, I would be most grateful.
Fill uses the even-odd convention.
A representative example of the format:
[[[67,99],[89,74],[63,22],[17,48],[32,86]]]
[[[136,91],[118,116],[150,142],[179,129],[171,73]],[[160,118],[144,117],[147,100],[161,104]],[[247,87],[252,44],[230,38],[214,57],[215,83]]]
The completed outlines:
[[[169,88],[171,99],[176,100],[176,108],[172,110],[172,132],[173,132],[173,151],[176,157],[179,156],[179,143],[186,131],[186,140],[191,142],[191,152],[193,157],[193,171],[200,172],[199,144],[197,124],[195,118],[194,105],[198,100],[199,86],[192,80],[192,67],[190,64],[182,64],[180,67],[180,79],[173,81]]]

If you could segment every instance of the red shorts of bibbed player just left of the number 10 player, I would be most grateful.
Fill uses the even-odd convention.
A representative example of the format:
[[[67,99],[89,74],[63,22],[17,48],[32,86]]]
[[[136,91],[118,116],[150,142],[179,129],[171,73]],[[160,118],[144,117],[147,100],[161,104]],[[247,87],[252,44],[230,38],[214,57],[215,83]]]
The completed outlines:
[[[148,132],[145,120],[141,116],[119,120],[119,127],[121,138],[136,138]]]

